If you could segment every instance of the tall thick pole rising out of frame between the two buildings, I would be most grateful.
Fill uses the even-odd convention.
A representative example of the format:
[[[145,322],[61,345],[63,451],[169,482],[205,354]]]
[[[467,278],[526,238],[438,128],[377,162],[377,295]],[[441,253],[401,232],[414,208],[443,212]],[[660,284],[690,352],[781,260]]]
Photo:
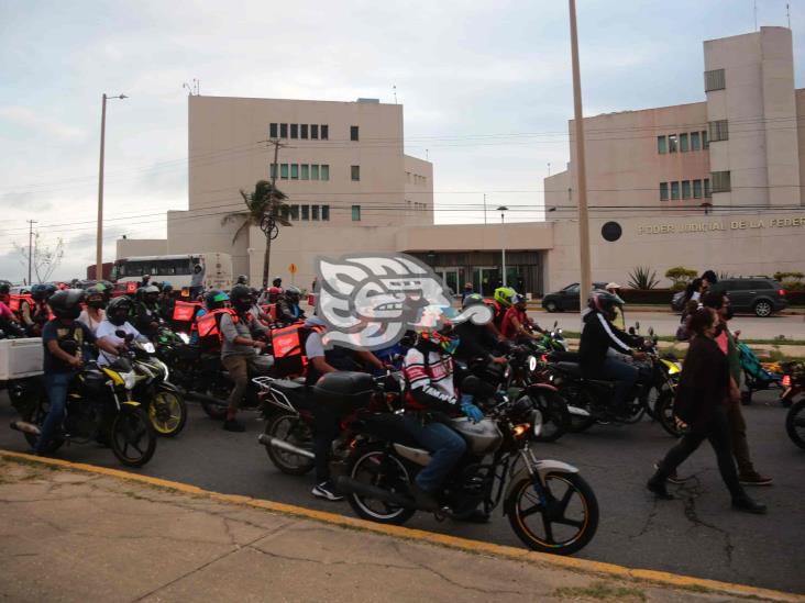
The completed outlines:
[[[582,76],[578,68],[578,33],[576,31],[576,2],[570,3],[571,55],[573,62],[573,121],[576,137],[576,178],[578,189],[578,250],[581,259],[580,308],[587,304],[593,287],[589,267],[589,217],[587,215],[587,166],[584,157],[584,114],[582,112]]]

